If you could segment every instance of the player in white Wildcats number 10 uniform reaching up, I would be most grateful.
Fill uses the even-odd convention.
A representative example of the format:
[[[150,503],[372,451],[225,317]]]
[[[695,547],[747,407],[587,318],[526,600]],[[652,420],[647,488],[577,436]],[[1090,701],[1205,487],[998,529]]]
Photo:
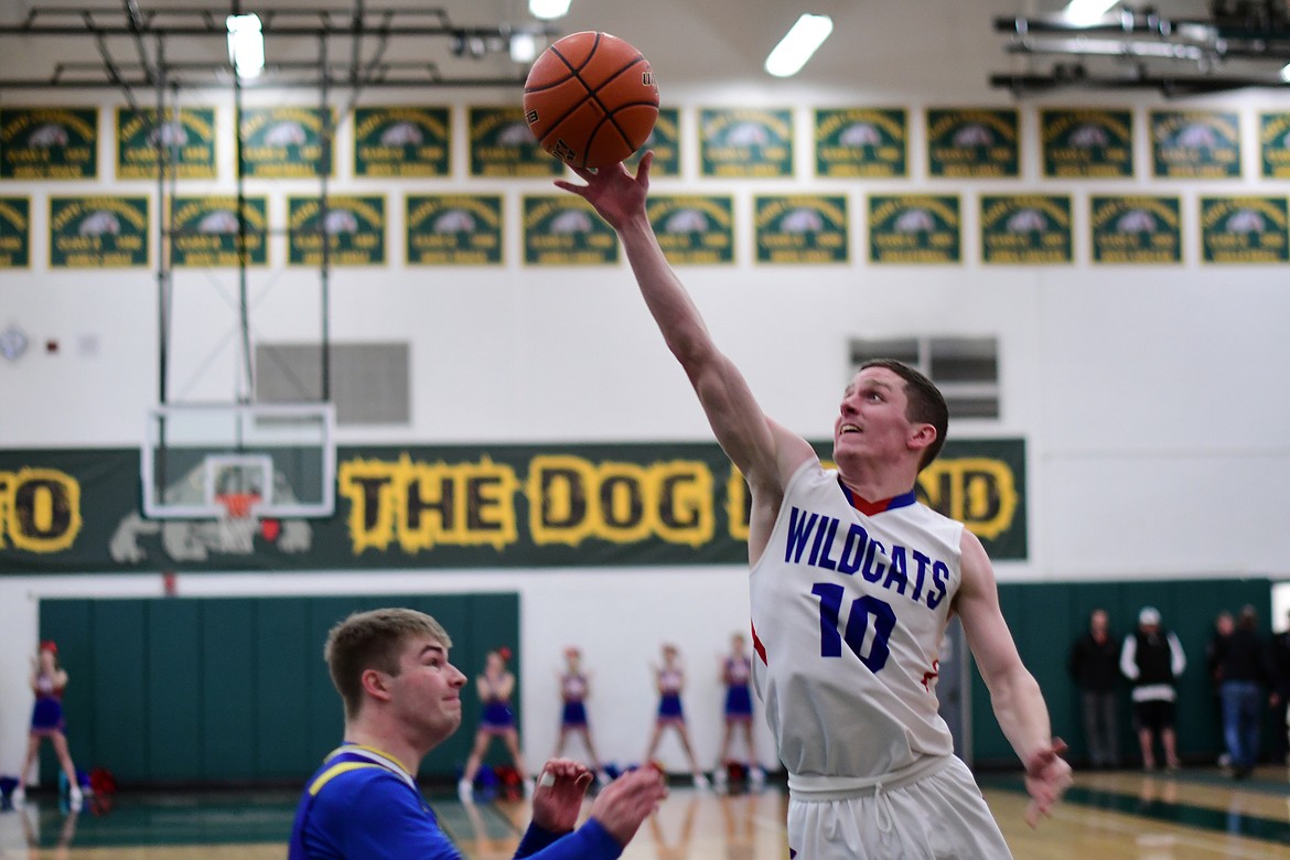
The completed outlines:
[[[915,498],[944,441],[944,400],[898,362],[862,367],[835,419],[837,469],[824,469],[761,411],[668,266],[645,213],[651,161],[646,153],[635,177],[622,165],[574,168],[586,184],[556,186],[618,232],[645,304],[748,482],[753,676],[788,771],[789,856],[1009,857],[937,713],[952,612],[1026,766],[1032,825],[1071,768],[980,542]]]

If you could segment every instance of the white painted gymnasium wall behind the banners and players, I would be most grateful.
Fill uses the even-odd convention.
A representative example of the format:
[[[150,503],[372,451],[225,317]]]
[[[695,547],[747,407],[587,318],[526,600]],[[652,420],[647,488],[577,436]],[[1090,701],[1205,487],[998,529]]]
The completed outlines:
[[[737,206],[735,266],[682,271],[719,343],[743,367],[764,407],[811,437],[827,437],[848,376],[846,342],[857,335],[911,333],[993,334],[1001,343],[1004,416],[997,423],[952,424],[952,436],[1027,440],[1031,557],[1000,566],[1005,580],[1272,575],[1290,578],[1290,271],[1286,267],[1204,267],[1197,263],[1201,193],[1285,196],[1290,183],[1255,178],[1254,116],[1287,110],[1281,93],[1236,93],[1193,102],[1238,110],[1245,119],[1247,178],[1237,182],[1161,183],[1148,175],[1146,119],[1138,119],[1139,166],[1133,181],[1040,181],[1035,153],[1023,181],[944,182],[925,178],[917,116],[944,104],[1010,104],[986,88],[986,70],[1006,66],[989,37],[989,4],[939,4],[937,14],[909,4],[875,4],[877,31],[899,34],[873,48],[857,81],[765,84],[757,80],[670,80],[664,101],[682,110],[686,139],[694,111],[729,104],[895,104],[909,108],[911,178],[899,182],[824,182],[811,177],[809,147],[799,147],[799,181],[698,179],[697,152],[685,147],[680,179],[659,192],[731,193]],[[899,15],[897,15],[899,10]],[[943,13],[943,14],[942,14]],[[889,19],[891,18],[891,19]],[[648,45],[642,49],[649,52]],[[0,61],[3,63],[3,61]],[[5,94],[5,104],[119,104],[112,94]],[[307,95],[257,95],[308,102]],[[259,99],[257,102],[257,99]],[[495,93],[373,93],[366,103],[400,101],[498,103]],[[227,99],[210,93],[222,129]],[[1057,106],[1161,106],[1149,93],[1063,93]],[[1170,103],[1178,106],[1176,103]],[[1023,107],[1028,107],[1023,104]],[[1023,113],[1027,121],[1033,116]],[[799,111],[799,141],[808,116]],[[338,269],[333,280],[332,337],[413,343],[414,415],[409,428],[343,431],[342,444],[601,442],[707,440],[710,431],[685,378],[653,329],[626,266],[530,269],[520,264],[513,224],[522,193],[547,193],[546,181],[466,179],[464,130],[458,121],[455,173],[446,181],[353,182],[346,159],[337,193],[390,195],[388,255],[402,258],[401,196],[415,191],[499,192],[507,218],[507,263],[495,269]],[[1027,141],[1033,141],[1033,130]],[[101,165],[112,162],[103,135]],[[231,147],[221,175],[232,175]],[[351,150],[351,126],[338,152]],[[103,166],[104,174],[110,168]],[[227,192],[230,182],[184,183],[183,191]],[[957,267],[875,267],[864,262],[863,196],[934,190],[961,192],[965,262]],[[288,192],[306,182],[248,182],[270,193],[276,223]],[[836,267],[755,267],[752,196],[779,191],[846,193],[853,206],[853,259]],[[1075,197],[1076,259],[1067,267],[983,267],[975,197],[989,191],[1068,191]],[[35,258],[48,258],[49,193],[147,193],[155,183],[6,182],[0,193],[34,196]],[[1091,267],[1086,237],[1090,193],[1151,191],[1183,199],[1184,263],[1174,267]],[[155,200],[154,200],[155,206]],[[154,213],[156,217],[156,213]],[[155,249],[154,249],[155,253]],[[285,259],[276,240],[272,257]],[[177,273],[172,396],[228,400],[236,392],[231,272]],[[307,340],[317,333],[316,277],[272,269],[250,276],[254,337]],[[156,401],[156,288],[150,271],[0,275],[0,327],[21,325],[34,348],[0,365],[0,446],[133,446]],[[57,356],[41,344],[62,342]],[[94,349],[83,348],[89,338]],[[384,592],[519,591],[525,660],[526,753],[539,759],[555,743],[557,691],[552,672],[565,645],[584,647],[596,673],[591,716],[610,759],[644,752],[654,694],[646,663],[658,643],[675,640],[688,658],[697,744],[716,753],[720,691],[708,668],[730,632],[743,629],[747,597],[740,570],[559,570],[467,574],[364,574]],[[184,594],[344,592],[341,574],[182,576]],[[27,659],[35,647],[36,601],[49,596],[150,596],[154,576],[10,578],[0,581],[0,771],[15,770],[25,743],[30,695]],[[568,633],[578,602],[578,636]],[[630,611],[626,610],[630,607]],[[546,659],[543,658],[546,655]],[[70,667],[75,682],[76,668]],[[611,704],[613,703],[613,704]],[[542,718],[550,714],[550,719]],[[75,719],[75,714],[71,716]],[[770,745],[762,738],[762,758]],[[664,758],[680,766],[675,747]]]

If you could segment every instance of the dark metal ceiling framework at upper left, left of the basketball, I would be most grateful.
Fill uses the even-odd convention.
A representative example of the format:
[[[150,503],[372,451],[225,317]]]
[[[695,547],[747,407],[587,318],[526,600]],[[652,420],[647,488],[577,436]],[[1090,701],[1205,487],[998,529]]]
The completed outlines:
[[[232,6],[240,4],[233,0]],[[250,10],[250,9],[248,9]],[[351,8],[275,9],[255,6],[264,36],[266,50],[275,43],[312,40],[317,61],[270,62],[264,75],[240,81],[244,89],[341,88],[513,88],[524,84],[515,75],[449,75],[433,61],[386,59],[393,41],[441,39],[445,53],[454,57],[481,58],[510,50],[511,36],[521,28],[463,27],[453,23],[448,12],[436,6],[369,8],[355,0]],[[139,9],[137,0],[121,0],[120,6],[40,6],[31,9],[21,23],[0,24],[0,46],[6,37],[85,37],[90,40],[102,62],[61,61],[49,76],[0,77],[0,89],[121,89],[134,106],[133,90],[159,84],[181,89],[228,89],[233,83],[227,59],[170,61],[166,44],[174,39],[209,39],[223,44],[228,36],[227,10],[184,8]],[[550,37],[550,26],[526,27],[522,32]],[[117,58],[108,40],[128,39],[133,57]],[[328,44],[348,41],[348,62],[325,62]],[[150,49],[151,48],[151,49]],[[3,50],[3,48],[0,48]],[[84,53],[81,54],[84,55]]]

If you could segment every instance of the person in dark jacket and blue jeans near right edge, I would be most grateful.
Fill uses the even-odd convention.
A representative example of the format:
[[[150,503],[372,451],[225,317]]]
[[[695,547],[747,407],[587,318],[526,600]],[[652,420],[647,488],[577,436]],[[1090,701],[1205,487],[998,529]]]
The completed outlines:
[[[1236,628],[1210,645],[1210,674],[1223,707],[1223,740],[1232,775],[1245,779],[1259,758],[1260,685],[1267,681],[1265,646],[1253,606],[1241,609]]]

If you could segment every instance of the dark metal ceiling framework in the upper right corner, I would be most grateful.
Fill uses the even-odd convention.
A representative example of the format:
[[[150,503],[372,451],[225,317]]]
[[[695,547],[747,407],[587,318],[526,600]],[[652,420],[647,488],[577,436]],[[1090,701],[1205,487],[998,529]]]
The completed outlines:
[[[1091,24],[1064,15],[998,17],[1009,54],[1060,58],[1046,70],[998,72],[1015,94],[1055,89],[1156,89],[1169,97],[1287,88],[1290,13],[1273,0],[1213,0],[1211,17],[1166,18],[1125,8]],[[1038,66],[1038,63],[1036,63]]]

